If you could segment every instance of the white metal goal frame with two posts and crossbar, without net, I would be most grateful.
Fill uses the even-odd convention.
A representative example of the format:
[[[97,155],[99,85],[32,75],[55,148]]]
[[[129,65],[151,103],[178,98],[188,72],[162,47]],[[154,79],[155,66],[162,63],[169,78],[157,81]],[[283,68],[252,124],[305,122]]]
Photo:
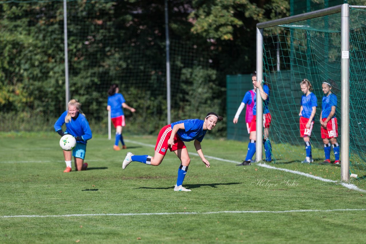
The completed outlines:
[[[286,18],[270,20],[257,24],[257,80],[263,79],[263,29],[283,25],[300,20],[317,18],[325,15],[341,13],[341,181],[350,180],[350,8],[366,8],[366,6],[341,4],[322,10]],[[263,101],[257,88],[257,128],[263,128]],[[263,157],[263,129],[257,130],[255,161]]]

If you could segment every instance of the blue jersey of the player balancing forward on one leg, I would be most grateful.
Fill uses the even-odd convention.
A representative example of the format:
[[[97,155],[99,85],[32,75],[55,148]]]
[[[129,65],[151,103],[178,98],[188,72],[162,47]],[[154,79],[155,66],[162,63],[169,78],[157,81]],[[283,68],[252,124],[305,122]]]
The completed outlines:
[[[188,119],[180,120],[171,123],[173,129],[174,125],[184,123],[184,129],[179,129],[177,135],[183,142],[190,142],[192,140],[198,140],[202,142],[203,137],[206,135],[207,130],[203,130],[203,123],[205,121],[200,119]]]

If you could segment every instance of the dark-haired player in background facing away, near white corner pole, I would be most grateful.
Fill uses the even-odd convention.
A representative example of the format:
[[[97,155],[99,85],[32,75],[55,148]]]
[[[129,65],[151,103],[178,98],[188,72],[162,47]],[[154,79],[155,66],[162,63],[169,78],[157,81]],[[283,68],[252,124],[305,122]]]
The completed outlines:
[[[108,106],[107,110],[111,111],[111,119],[114,127],[116,128],[116,140],[115,144],[113,145],[113,150],[119,151],[121,150],[118,146],[119,141],[122,143],[122,149],[126,149],[126,145],[123,141],[122,136],[122,127],[126,125],[124,121],[124,114],[122,108],[129,109],[132,113],[136,110],[131,108],[126,104],[126,100],[122,94],[118,93],[119,87],[117,84],[113,84],[108,90]]]

